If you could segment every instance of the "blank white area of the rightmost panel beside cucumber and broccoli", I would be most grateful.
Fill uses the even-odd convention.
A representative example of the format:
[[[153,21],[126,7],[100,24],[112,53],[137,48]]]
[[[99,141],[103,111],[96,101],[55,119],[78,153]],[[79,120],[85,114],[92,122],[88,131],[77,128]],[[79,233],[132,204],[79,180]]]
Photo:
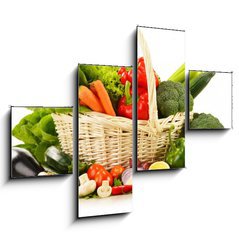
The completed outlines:
[[[216,73],[195,98],[193,111],[211,113],[224,128],[231,128],[231,73]]]

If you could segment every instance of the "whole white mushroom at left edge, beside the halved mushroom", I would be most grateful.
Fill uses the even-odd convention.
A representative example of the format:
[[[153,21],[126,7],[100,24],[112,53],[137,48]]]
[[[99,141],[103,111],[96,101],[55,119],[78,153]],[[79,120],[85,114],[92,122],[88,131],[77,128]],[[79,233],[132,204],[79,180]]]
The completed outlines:
[[[82,174],[79,177],[79,197],[87,196],[96,190],[96,182],[89,180],[87,173]]]

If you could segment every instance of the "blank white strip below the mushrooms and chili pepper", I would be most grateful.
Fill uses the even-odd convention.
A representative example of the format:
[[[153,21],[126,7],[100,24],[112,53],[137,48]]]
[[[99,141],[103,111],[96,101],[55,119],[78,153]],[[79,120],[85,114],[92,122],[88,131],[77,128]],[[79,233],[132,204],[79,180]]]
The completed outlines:
[[[97,216],[132,211],[132,194],[108,198],[79,199],[79,215]]]

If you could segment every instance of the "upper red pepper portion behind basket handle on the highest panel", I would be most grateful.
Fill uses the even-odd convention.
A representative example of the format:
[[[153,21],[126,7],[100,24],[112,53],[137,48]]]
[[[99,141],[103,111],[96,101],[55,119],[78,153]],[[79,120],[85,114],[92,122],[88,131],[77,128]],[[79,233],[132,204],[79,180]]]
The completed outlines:
[[[156,75],[154,72],[155,76],[155,84],[156,87],[159,85],[159,77]],[[147,89],[148,88],[148,83],[147,83],[147,76],[146,76],[146,69],[145,69],[145,62],[144,58],[140,57],[138,59],[138,69],[137,69],[137,81],[138,81],[138,86]]]

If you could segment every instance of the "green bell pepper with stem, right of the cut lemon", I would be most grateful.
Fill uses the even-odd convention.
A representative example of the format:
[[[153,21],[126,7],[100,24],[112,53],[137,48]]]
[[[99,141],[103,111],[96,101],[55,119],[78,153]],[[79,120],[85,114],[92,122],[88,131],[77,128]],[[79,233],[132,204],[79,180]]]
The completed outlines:
[[[185,167],[185,138],[178,138],[175,141],[171,139],[171,130],[169,129],[169,143],[165,161],[171,168]]]

